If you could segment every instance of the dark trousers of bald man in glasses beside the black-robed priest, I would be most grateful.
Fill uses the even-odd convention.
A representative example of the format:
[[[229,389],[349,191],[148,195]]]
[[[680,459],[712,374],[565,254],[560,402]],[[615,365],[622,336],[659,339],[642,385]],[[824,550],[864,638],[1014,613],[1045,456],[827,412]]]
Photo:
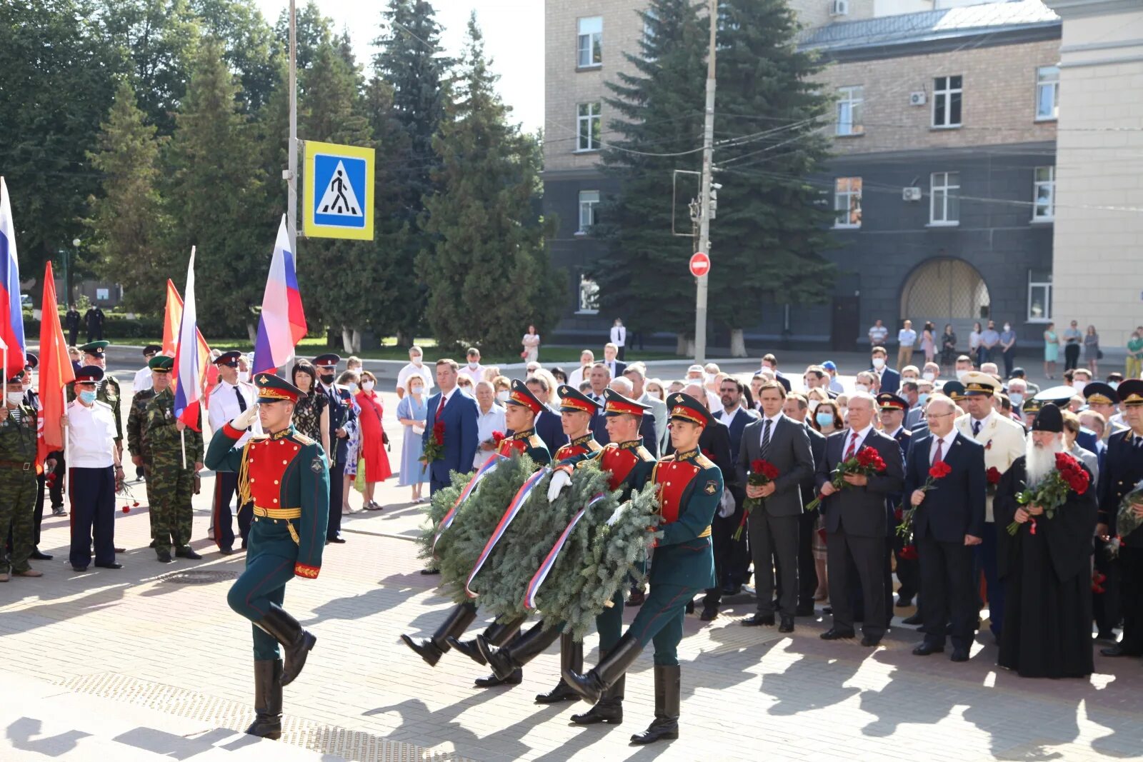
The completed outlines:
[[[925,607],[925,642],[944,645],[951,629],[952,644],[968,648],[976,632],[980,610],[973,584],[973,548],[959,543],[941,543],[932,535],[917,539],[921,562],[921,596]],[[950,626],[951,625],[951,626]]]

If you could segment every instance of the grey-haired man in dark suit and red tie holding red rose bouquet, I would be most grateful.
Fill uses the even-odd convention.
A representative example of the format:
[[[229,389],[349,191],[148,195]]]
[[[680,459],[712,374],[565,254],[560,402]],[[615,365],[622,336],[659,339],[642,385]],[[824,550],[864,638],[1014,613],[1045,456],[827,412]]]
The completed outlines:
[[[854,636],[853,607],[848,596],[849,560],[853,559],[865,602],[862,645],[866,647],[877,645],[885,635],[887,601],[881,579],[887,531],[885,502],[889,495],[900,492],[904,483],[901,448],[892,436],[873,428],[876,404],[866,392],[855,392],[849,398],[849,427],[830,435],[825,458],[817,464],[815,478],[817,491],[823,497],[821,510],[825,520],[830,601],[833,604],[833,626],[822,633],[822,639]],[[842,489],[833,487],[833,470],[865,447],[881,456],[885,471],[870,476],[848,474]]]

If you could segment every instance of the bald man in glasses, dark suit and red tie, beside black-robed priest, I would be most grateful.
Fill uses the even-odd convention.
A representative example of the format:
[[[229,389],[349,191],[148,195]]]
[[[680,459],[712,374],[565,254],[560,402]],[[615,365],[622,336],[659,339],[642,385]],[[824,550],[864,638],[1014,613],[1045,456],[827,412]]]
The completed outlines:
[[[905,464],[904,492],[917,508],[913,537],[921,562],[925,641],[917,656],[944,651],[945,633],[952,635],[952,660],[967,661],[976,618],[973,546],[984,534],[984,448],[954,425],[956,403],[944,394],[929,400],[928,434],[913,438]],[[944,463],[950,473],[924,488],[929,468]]]

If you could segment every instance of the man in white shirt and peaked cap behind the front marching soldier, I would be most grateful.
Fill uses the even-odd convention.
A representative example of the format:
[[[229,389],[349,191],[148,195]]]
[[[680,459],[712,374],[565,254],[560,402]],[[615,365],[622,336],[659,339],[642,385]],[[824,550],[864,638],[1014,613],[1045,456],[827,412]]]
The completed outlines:
[[[253,384],[239,380],[238,359],[241,352],[223,352],[215,359],[218,368],[218,385],[210,391],[209,418],[210,430],[218,431],[227,420],[233,420],[254,407],[257,392]],[[239,438],[235,447],[242,447],[250,434],[261,434],[262,428],[255,422],[251,431]],[[221,472],[215,474],[215,497],[211,524],[215,528],[215,544],[218,552],[230,555],[234,552],[234,526],[230,518],[230,498],[238,491],[238,474]],[[246,538],[250,534],[250,519],[254,518],[254,506],[250,503],[238,504],[238,532],[246,547]]]

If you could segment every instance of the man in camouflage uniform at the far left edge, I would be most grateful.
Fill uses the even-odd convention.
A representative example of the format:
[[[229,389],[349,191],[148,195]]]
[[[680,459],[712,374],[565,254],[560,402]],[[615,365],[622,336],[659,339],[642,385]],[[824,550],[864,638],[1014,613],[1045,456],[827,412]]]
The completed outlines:
[[[35,410],[24,403],[24,371],[7,379],[0,407],[0,537],[11,530],[11,553],[0,558],[0,581],[42,577],[29,563],[35,511]],[[0,543],[0,551],[3,544]]]

